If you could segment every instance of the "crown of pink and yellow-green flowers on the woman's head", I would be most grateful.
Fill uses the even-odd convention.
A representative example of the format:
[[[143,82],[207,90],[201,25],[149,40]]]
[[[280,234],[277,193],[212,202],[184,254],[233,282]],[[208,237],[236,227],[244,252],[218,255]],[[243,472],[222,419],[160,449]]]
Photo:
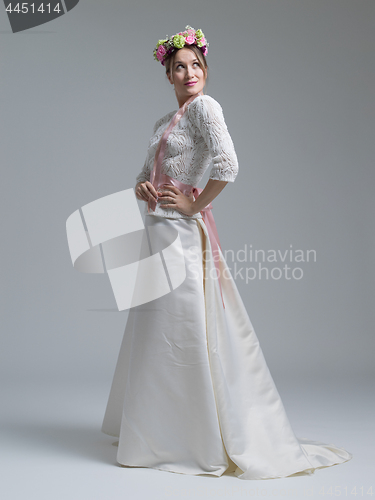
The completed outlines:
[[[182,49],[186,45],[196,45],[199,47],[203,55],[207,55],[208,42],[201,29],[195,30],[191,26],[185,26],[185,31],[176,33],[169,37],[166,35],[165,40],[159,40],[154,49],[154,59],[165,64],[165,59],[175,50]]]

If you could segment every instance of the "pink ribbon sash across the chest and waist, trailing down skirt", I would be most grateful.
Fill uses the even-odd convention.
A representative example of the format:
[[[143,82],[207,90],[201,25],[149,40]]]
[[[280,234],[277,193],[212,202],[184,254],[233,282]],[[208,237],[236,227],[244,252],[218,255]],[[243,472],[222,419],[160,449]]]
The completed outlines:
[[[159,141],[159,144],[158,144],[158,147],[157,147],[156,153],[155,153],[154,166],[153,166],[151,176],[150,176],[150,182],[155,187],[156,190],[158,190],[160,187],[164,186],[165,184],[172,184],[173,186],[176,186],[186,196],[189,196],[189,194],[191,192],[193,192],[195,199],[197,199],[198,196],[200,195],[200,193],[203,191],[202,188],[197,188],[197,187],[191,186],[190,184],[184,184],[183,182],[181,182],[177,179],[174,179],[173,177],[170,177],[169,175],[164,174],[161,171],[161,163],[162,163],[163,158],[164,158],[168,136],[169,136],[172,128],[182,118],[188,105],[199,95],[202,95],[202,91],[199,92],[198,94],[195,94],[195,95],[189,97],[189,99],[180,107],[180,109],[177,111],[177,113],[173,116],[172,120],[170,121],[168,127],[166,128],[164,134],[162,135],[162,137]],[[155,211],[156,203],[157,202],[154,199],[149,198],[148,206],[147,206],[147,210],[149,213],[150,213],[150,209]],[[204,223],[206,224],[208,236],[210,238],[212,254],[213,254],[213,259],[214,259],[215,268],[216,268],[216,277],[219,279],[221,299],[223,301],[223,307],[225,309],[223,291],[221,288],[221,280],[220,280],[220,268],[219,268],[219,260],[220,260],[219,248],[221,249],[221,245],[220,245],[220,241],[219,241],[219,235],[218,235],[217,229],[216,229],[215,219],[214,219],[214,216],[211,212],[211,209],[212,209],[212,204],[209,203],[207,206],[205,206],[200,211],[200,213],[202,214],[202,218],[203,218]]]

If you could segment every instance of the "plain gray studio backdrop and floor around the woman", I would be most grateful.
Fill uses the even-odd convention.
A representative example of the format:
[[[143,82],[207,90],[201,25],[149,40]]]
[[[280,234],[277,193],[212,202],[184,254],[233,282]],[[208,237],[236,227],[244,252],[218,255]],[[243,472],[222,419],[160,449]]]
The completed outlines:
[[[98,437],[127,313],[116,312],[106,275],[73,269],[65,222],[134,186],[155,121],[177,109],[152,50],[186,24],[210,43],[205,91],[220,102],[239,159],[236,181],[214,201],[223,249],[317,252],[316,262],[298,264],[301,280],[236,279],[296,434],[352,453],[356,432],[373,434],[374,21],[370,0],[81,0],[13,34],[0,9],[7,464],[23,457],[29,470],[22,446],[40,454],[43,474],[43,457],[53,456],[50,467],[61,456],[81,460],[79,475],[72,468],[69,483],[57,475],[54,484],[61,498],[82,500],[107,491],[91,478],[93,464],[119,481],[122,473],[180,480],[114,467],[116,450]],[[359,456],[357,482],[345,469],[353,460],[317,471],[318,480],[340,470],[363,485],[374,462],[364,449]],[[36,497],[51,498],[32,477]],[[108,498],[123,497],[116,480]]]

